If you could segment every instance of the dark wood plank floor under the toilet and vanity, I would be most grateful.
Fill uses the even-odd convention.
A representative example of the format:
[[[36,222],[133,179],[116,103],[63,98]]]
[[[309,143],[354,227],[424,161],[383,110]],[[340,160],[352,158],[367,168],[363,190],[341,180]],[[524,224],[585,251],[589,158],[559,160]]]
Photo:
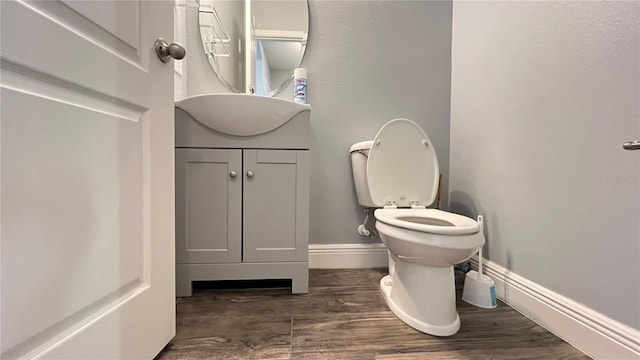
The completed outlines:
[[[589,359],[500,302],[488,310],[458,300],[456,335],[420,333],[385,305],[378,290],[385,274],[311,270],[304,295],[196,291],[179,299],[176,337],[156,359]]]

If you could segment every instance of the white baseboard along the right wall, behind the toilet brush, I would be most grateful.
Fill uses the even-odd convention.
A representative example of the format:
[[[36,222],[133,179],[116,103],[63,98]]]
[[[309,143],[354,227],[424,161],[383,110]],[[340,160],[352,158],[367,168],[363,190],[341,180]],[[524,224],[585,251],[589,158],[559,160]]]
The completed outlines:
[[[478,258],[471,259],[477,268]],[[548,290],[484,260],[496,295],[542,327],[594,359],[640,359],[640,330]]]

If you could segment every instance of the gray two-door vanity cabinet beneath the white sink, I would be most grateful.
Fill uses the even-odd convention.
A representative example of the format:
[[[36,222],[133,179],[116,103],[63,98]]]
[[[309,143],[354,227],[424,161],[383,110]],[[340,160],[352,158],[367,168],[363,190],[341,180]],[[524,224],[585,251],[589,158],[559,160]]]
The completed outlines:
[[[308,292],[309,111],[228,136],[176,108],[176,296],[193,281],[291,279]]]

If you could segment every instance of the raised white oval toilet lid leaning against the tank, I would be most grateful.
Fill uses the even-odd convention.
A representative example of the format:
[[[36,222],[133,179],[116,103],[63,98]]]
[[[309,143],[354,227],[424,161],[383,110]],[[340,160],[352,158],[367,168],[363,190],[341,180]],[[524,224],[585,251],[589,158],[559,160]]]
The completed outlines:
[[[395,202],[409,207],[412,200],[429,206],[438,192],[438,157],[431,140],[418,124],[395,119],[384,124],[371,146],[367,180],[377,206]]]

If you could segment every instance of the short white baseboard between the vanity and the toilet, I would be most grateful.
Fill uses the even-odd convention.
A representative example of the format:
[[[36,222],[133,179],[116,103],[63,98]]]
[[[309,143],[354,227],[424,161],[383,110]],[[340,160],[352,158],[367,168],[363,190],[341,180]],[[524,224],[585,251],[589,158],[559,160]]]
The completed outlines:
[[[387,247],[374,244],[311,244],[311,269],[357,269],[389,266]]]

